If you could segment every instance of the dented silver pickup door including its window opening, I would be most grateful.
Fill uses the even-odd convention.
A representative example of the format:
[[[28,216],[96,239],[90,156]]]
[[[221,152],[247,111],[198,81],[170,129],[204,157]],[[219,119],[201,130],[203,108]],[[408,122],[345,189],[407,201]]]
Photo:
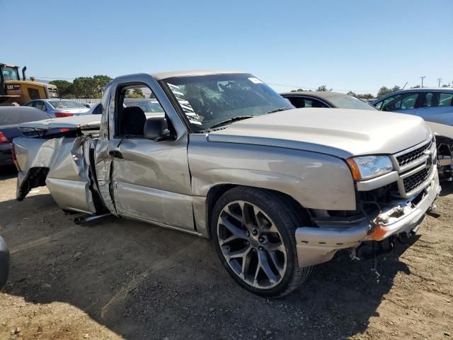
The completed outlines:
[[[164,109],[161,103],[168,98],[158,98],[156,92],[161,89],[156,86],[147,79],[117,86],[115,126],[108,147],[113,157],[115,208],[123,217],[193,230],[188,136],[174,128],[179,118],[176,112],[167,112],[171,106]],[[126,116],[132,112],[132,118]],[[166,117],[175,140],[144,137],[144,121],[159,115]]]

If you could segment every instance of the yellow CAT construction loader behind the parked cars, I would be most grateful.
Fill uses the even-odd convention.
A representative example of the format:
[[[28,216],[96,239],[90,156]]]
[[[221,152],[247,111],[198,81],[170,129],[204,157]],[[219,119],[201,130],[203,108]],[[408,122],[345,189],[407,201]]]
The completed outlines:
[[[23,105],[33,99],[58,98],[57,86],[27,81],[25,69],[22,79],[19,67],[0,62],[0,106]]]

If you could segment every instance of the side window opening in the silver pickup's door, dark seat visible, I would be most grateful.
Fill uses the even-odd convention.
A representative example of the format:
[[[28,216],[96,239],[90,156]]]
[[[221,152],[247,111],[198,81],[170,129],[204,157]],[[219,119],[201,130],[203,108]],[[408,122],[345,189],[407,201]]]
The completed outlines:
[[[165,115],[149,86],[127,85],[117,91],[115,135],[143,136],[144,124],[148,118]]]

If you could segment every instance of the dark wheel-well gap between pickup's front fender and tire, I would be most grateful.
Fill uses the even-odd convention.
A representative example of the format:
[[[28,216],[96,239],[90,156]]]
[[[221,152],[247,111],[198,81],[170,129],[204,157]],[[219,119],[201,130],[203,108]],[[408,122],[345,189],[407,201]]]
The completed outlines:
[[[206,198],[206,205],[207,205],[207,216],[206,216],[206,224],[207,224],[207,229],[210,230],[210,222],[211,222],[211,217],[212,217],[212,210],[214,210],[214,205],[217,203],[219,198],[226,193],[226,191],[229,191],[232,188],[235,188],[235,184],[219,184],[217,186],[213,186],[210,188],[210,191],[207,193],[207,198]],[[242,186],[246,188],[247,186]],[[294,211],[297,211],[300,213],[300,217],[303,220],[306,220],[309,222],[309,217],[310,217],[310,212],[309,210],[306,210],[297,200],[294,200],[292,196],[287,195],[286,193],[282,193],[280,191],[275,191],[275,190],[270,190],[266,188],[258,188],[258,187],[252,187],[252,188],[257,188],[263,191],[267,191],[268,193],[274,193],[275,195],[279,196],[282,200],[285,201],[287,205],[291,205],[292,208],[294,208]],[[210,235],[211,237],[211,235]]]

